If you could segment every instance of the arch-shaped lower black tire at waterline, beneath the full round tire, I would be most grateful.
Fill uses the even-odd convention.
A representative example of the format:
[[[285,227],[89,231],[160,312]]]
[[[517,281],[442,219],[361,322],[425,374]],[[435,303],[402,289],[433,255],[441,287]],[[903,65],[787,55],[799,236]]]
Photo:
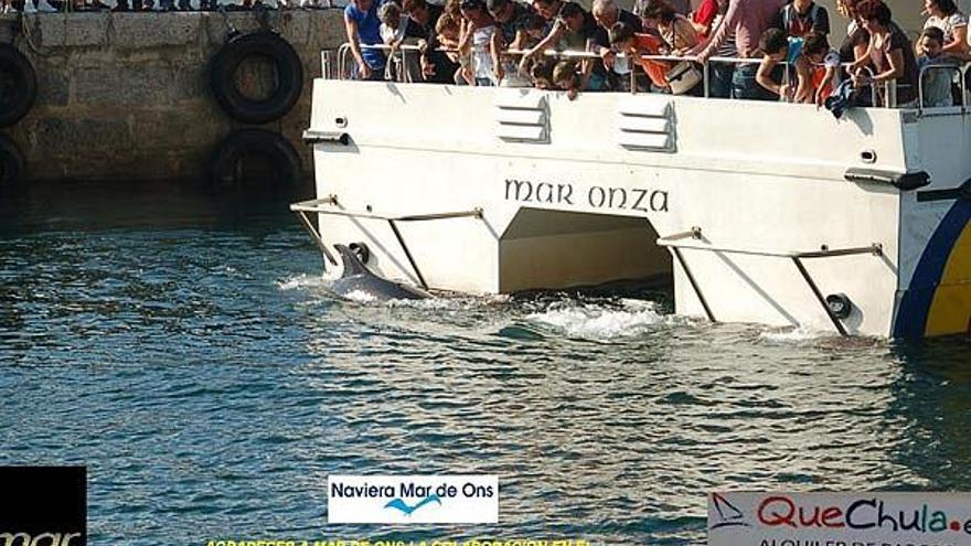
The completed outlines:
[[[268,160],[273,185],[297,185],[302,176],[300,156],[282,136],[265,129],[241,129],[226,137],[213,156],[210,183],[213,189],[238,186],[245,179],[241,162],[246,158]]]

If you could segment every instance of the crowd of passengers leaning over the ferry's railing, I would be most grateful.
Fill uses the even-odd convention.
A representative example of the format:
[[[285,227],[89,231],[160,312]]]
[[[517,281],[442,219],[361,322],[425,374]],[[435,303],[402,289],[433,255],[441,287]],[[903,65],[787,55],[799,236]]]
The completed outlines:
[[[693,11],[689,0],[636,0],[631,11],[615,0],[594,0],[589,11],[565,0],[401,1],[352,0],[345,8],[358,77],[532,86],[570,98],[631,85],[703,95],[698,63],[708,63],[712,97],[866,103],[869,95],[854,89],[883,92],[892,86],[874,84],[893,82],[896,104],[913,106],[922,66],[971,61],[968,18],[953,0],[925,0],[928,19],[916,43],[882,0],[836,0],[847,28],[835,49],[830,14],[813,0],[701,0]],[[546,55],[551,50],[588,54]],[[642,74],[631,78],[637,66]],[[925,106],[953,104],[959,77],[956,69],[926,71]]]

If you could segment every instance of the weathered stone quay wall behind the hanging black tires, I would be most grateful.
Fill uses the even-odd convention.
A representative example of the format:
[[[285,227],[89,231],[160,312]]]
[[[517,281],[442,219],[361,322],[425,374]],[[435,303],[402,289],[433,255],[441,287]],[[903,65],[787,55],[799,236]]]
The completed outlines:
[[[320,52],[344,41],[341,12],[271,11],[267,20],[300,55],[305,86],[287,116],[260,127],[292,142],[309,175],[300,135]],[[228,21],[241,31],[259,28],[254,12],[231,12]],[[207,64],[227,33],[220,13],[0,17],[0,41],[12,38],[31,60],[39,87],[30,114],[0,131],[23,151],[31,180],[204,179],[220,141],[244,127],[210,90]]]

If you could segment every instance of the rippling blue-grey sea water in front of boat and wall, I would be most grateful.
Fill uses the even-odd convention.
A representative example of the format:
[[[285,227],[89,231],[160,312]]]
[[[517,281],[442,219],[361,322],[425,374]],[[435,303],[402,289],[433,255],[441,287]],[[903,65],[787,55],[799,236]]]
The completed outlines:
[[[92,544],[703,544],[712,490],[971,490],[968,339],[341,301],[286,196],[0,199],[0,464],[86,464]],[[498,474],[500,523],[328,526],[333,473]]]

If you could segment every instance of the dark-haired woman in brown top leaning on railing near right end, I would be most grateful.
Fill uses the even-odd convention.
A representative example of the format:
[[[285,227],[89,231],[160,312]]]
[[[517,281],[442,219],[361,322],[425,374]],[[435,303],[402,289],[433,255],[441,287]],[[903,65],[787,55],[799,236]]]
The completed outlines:
[[[883,93],[883,84],[892,83],[896,86],[896,106],[914,103],[917,98],[919,71],[910,40],[892,20],[890,9],[883,1],[864,0],[856,6],[856,12],[863,26],[869,32],[867,55],[850,67],[856,87],[876,84],[877,89]],[[863,72],[864,66],[873,69],[872,79]],[[889,93],[894,93],[893,85],[889,89]],[[885,93],[883,101],[886,106],[893,100]]]

